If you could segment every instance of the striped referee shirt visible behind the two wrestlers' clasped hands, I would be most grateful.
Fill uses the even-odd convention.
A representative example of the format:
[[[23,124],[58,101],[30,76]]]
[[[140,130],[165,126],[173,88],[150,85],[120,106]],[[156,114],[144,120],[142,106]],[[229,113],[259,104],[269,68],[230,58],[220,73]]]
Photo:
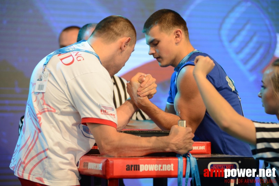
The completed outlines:
[[[127,92],[126,83],[127,81],[124,78],[118,76],[111,77],[113,82],[113,103],[115,108],[118,108],[122,105],[130,96]],[[142,110],[138,109],[136,113],[132,116],[133,120],[150,120],[150,117],[147,116]]]

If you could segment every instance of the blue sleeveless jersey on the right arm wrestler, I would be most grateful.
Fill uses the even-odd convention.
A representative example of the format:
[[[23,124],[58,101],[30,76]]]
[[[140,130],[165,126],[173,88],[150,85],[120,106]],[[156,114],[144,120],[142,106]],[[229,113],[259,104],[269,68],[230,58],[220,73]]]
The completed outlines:
[[[194,65],[196,56],[209,56],[202,52],[193,53],[187,62],[180,68],[180,70],[187,65]],[[209,56],[210,57],[210,56]],[[206,76],[206,78],[213,84],[216,90],[232,105],[237,113],[243,115],[238,93],[234,86],[234,83],[223,70],[223,68],[212,58],[215,66],[212,71]],[[177,94],[176,78],[179,74],[174,72],[171,77],[170,91],[167,102],[173,104],[175,95]],[[232,123],[233,125],[233,123]],[[210,141],[211,153],[221,153],[229,155],[249,156],[252,157],[252,153],[248,144],[232,137],[226,132],[222,131],[218,125],[209,116],[206,111],[203,120],[195,131],[194,141]]]

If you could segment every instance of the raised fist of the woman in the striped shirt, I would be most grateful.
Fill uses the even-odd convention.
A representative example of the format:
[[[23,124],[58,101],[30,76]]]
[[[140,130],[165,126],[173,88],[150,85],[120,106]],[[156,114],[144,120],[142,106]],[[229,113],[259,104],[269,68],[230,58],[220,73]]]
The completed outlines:
[[[214,68],[215,63],[208,56],[198,55],[195,58],[195,68],[193,71],[194,76],[197,74],[201,74],[206,76],[209,72]]]

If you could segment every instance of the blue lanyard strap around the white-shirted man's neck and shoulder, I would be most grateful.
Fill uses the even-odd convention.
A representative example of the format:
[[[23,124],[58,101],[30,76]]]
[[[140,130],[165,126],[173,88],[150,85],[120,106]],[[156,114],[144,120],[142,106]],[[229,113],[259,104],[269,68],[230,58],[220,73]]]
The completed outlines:
[[[79,43],[84,42],[84,41],[86,41],[86,40],[81,40],[81,41],[79,41],[79,42],[77,42],[77,43],[74,43],[74,44],[72,44],[72,45],[79,44]],[[72,45],[70,45],[70,46],[72,46]],[[47,59],[46,59],[46,62],[43,64],[43,73],[44,73],[44,71],[45,71],[45,68],[46,68],[46,66],[47,66],[47,64],[48,64],[48,62],[49,62],[49,60],[50,60],[54,55],[57,55],[57,54],[65,54],[65,53],[72,52],[72,51],[87,52],[87,53],[93,54],[93,55],[95,55],[95,56],[98,58],[98,60],[99,60],[100,63],[101,63],[100,57],[99,57],[95,52],[88,51],[88,50],[83,50],[83,49],[79,49],[79,48],[69,48],[70,46],[64,47],[64,48],[60,48],[60,49],[54,51],[52,54],[48,55],[48,56],[47,56]],[[101,64],[102,64],[102,63],[101,63]]]

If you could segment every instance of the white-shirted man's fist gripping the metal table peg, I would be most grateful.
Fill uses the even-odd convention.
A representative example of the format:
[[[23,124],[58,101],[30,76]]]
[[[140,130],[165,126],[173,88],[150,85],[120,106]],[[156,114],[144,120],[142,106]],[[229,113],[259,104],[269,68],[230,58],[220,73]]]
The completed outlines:
[[[173,147],[172,151],[178,154],[185,154],[193,150],[194,136],[190,127],[172,126],[169,133],[170,145]]]

